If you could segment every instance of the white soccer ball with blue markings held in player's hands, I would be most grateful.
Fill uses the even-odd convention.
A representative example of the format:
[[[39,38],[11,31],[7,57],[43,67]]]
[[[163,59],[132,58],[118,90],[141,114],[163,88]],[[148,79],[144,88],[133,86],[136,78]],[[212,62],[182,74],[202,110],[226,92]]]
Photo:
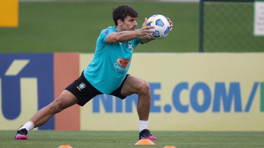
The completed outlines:
[[[150,35],[154,35],[155,39],[162,39],[166,37],[170,32],[170,23],[169,20],[163,15],[154,15],[151,16],[147,22],[151,21],[152,23],[148,24],[148,26],[154,26],[154,28],[150,28],[149,30],[155,30],[155,32],[149,32]]]

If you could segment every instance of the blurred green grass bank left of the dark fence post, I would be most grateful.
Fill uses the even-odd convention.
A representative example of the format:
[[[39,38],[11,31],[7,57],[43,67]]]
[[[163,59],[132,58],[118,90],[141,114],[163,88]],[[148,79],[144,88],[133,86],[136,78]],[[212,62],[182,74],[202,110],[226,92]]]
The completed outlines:
[[[93,53],[102,29],[114,26],[112,8],[129,4],[145,17],[162,14],[173,30],[161,40],[139,45],[135,52],[197,52],[199,3],[158,1],[19,2],[19,26],[0,28],[0,52]]]

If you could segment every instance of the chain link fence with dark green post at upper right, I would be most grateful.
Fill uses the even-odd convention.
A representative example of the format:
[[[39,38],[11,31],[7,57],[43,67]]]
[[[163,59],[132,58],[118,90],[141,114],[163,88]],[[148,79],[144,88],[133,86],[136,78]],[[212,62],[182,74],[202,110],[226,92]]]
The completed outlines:
[[[253,0],[200,1],[200,52],[263,52],[253,30]]]

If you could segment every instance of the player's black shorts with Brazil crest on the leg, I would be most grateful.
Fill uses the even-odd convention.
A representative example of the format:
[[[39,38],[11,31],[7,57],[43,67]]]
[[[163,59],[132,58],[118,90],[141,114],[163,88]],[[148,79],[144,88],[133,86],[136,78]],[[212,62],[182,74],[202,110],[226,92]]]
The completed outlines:
[[[121,95],[121,89],[128,75],[129,74],[126,75],[121,85],[114,92],[112,92],[111,95],[115,97],[119,97],[120,99],[126,98],[126,96]],[[94,88],[93,85],[91,85],[89,81],[86,80],[86,78],[83,75],[83,71],[82,71],[81,76],[77,80],[72,82],[72,84],[67,86],[65,90],[70,91],[72,94],[74,94],[78,98],[79,103],[77,104],[80,106],[84,106],[84,104],[90,101],[93,97],[99,94],[103,94],[99,90]]]

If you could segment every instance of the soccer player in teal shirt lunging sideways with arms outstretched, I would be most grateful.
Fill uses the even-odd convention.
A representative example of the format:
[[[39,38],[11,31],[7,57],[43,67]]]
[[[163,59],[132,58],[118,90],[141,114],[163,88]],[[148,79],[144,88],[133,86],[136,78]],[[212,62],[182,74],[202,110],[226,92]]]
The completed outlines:
[[[141,29],[136,30],[137,11],[128,5],[113,8],[114,27],[101,31],[97,39],[92,61],[84,69],[81,76],[72,82],[60,96],[48,106],[40,109],[24,126],[18,129],[16,140],[27,139],[27,133],[33,128],[46,123],[55,113],[78,104],[84,106],[99,94],[110,94],[121,99],[131,94],[138,94],[137,112],[139,117],[139,140],[157,138],[148,130],[148,116],[150,111],[150,87],[148,82],[127,74],[134,49],[137,44],[153,40],[148,30],[150,22],[143,23]],[[170,31],[172,30],[172,22]]]

